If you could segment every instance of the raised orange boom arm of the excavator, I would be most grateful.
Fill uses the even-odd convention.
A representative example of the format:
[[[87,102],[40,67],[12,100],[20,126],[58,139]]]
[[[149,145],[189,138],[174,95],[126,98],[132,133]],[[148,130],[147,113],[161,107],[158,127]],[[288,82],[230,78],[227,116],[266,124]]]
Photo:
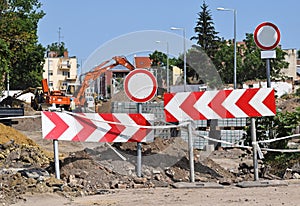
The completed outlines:
[[[113,62],[112,62],[113,61]],[[112,63],[110,63],[112,62]],[[84,79],[77,88],[77,91],[74,93],[72,100],[74,101],[77,107],[84,107],[86,103],[85,99],[85,91],[88,87],[90,87],[90,81],[95,81],[101,75],[103,75],[107,70],[110,70],[118,65],[122,65],[129,69],[130,71],[134,70],[135,67],[127,60],[125,56],[115,56],[111,60],[107,60],[93,68],[91,71],[86,72],[84,75]]]

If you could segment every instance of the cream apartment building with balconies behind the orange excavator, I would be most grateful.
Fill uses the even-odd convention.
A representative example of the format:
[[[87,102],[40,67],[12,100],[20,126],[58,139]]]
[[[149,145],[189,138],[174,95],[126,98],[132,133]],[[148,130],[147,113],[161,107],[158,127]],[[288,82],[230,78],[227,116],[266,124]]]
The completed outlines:
[[[51,90],[66,91],[69,83],[75,83],[77,78],[77,59],[69,57],[64,52],[63,57],[58,57],[56,52],[48,52],[43,67],[43,78],[48,80]]]

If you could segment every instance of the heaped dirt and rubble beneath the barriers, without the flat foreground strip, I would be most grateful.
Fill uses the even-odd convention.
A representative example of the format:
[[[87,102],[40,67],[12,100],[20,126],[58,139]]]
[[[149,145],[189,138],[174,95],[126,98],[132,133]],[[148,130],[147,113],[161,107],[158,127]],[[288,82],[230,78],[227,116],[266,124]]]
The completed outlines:
[[[74,144],[73,150],[60,154],[60,179],[56,179],[53,152],[20,132],[40,131],[40,119],[18,121],[14,128],[0,124],[0,204],[21,201],[28,192],[71,198],[108,194],[113,189],[172,187],[190,180],[188,145],[180,137],[142,143],[142,177],[136,176],[136,143],[111,145],[125,161],[106,144],[84,149]],[[194,161],[196,182],[227,186],[254,179],[248,149],[195,150]],[[281,179],[262,160],[259,169],[261,178]],[[299,173],[295,163],[284,178],[299,178]]]

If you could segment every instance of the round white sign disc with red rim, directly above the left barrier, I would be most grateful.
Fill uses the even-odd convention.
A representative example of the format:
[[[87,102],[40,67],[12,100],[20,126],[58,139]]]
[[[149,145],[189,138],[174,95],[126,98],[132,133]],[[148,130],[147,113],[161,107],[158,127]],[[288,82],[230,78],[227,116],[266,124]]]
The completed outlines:
[[[125,93],[134,102],[143,103],[151,100],[157,90],[154,75],[146,69],[131,71],[124,81]]]

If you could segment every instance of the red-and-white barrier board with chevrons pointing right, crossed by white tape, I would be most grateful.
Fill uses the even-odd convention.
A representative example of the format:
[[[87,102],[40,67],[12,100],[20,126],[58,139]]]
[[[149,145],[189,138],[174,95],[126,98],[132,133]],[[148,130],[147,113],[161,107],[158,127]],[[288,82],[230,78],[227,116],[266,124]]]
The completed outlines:
[[[42,112],[44,139],[80,142],[152,142],[153,114]]]

